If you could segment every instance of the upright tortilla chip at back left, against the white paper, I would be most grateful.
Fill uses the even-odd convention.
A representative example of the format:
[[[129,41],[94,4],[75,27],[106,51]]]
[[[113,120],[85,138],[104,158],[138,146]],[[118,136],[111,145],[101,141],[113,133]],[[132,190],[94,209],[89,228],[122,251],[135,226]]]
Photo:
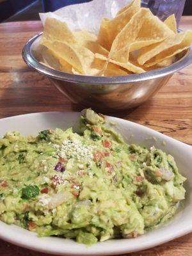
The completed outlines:
[[[47,18],[45,20],[44,33],[41,43],[44,41],[65,41],[68,44],[76,44],[76,36],[68,28],[65,22],[54,18]]]

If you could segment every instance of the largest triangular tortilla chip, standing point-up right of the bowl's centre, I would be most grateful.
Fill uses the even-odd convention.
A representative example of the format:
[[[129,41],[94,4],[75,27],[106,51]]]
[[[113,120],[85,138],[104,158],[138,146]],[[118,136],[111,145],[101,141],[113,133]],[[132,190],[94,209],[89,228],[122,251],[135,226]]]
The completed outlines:
[[[118,33],[111,46],[111,52],[118,51],[126,45],[130,45],[130,51],[136,51],[141,47],[161,42],[170,35],[173,35],[171,29],[150,10],[141,8]]]

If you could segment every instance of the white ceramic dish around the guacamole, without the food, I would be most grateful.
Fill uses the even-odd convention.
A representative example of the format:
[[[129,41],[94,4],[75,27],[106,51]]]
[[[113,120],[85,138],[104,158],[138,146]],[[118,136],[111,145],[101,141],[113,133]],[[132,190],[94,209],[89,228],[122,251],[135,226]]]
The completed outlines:
[[[4,118],[0,120],[0,136],[7,131],[19,131],[28,135],[37,134],[47,128],[67,129],[76,124],[79,115],[72,112],[49,112]],[[1,239],[31,250],[57,255],[115,255],[144,250],[192,232],[192,147],[143,125],[110,116],[107,116],[106,120],[116,122],[116,131],[120,132],[128,143],[147,147],[154,145],[175,157],[180,173],[188,180],[185,182],[186,200],[180,204],[172,220],[136,239],[113,239],[90,247],[58,237],[40,238],[33,232],[0,221]]]

